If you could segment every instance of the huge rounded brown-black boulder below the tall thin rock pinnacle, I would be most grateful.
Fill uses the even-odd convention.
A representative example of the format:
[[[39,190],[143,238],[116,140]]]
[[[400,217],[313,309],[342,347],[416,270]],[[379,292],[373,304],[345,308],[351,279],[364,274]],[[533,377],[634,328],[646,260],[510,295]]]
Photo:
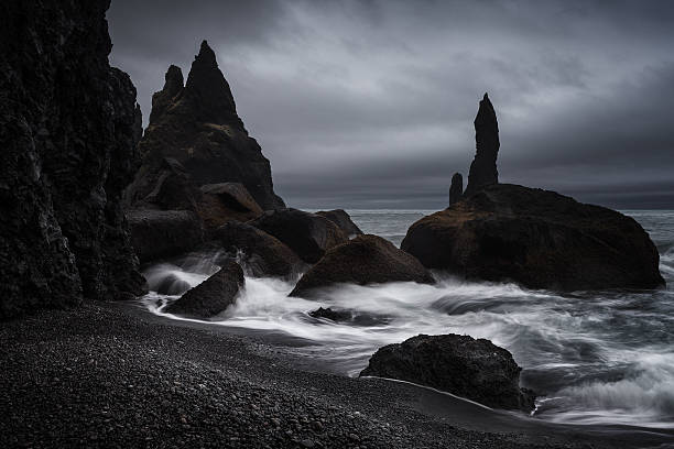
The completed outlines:
[[[407,230],[401,248],[427,269],[557,291],[664,285],[643,228],[554,191],[483,187]]]

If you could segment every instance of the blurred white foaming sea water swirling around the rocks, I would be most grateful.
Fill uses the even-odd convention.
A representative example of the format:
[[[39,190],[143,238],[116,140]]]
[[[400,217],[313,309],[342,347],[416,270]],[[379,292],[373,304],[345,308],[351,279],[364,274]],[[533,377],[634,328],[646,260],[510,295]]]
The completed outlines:
[[[363,232],[396,245],[431,212],[349,211]],[[539,393],[536,419],[674,428],[674,211],[623,212],[657,245],[667,288],[562,295],[437,275],[436,285],[336,286],[316,302],[287,297],[292,282],[247,276],[237,304],[211,322],[305,339],[308,344],[295,351],[347,375],[358,375],[379,347],[418,333],[487,338],[513,353],[522,385]],[[151,289],[167,276],[194,286],[218,270],[216,259],[195,254],[152,266],[145,276]],[[143,304],[166,315],[163,307],[177,297],[151,292]],[[312,318],[308,311],[320,306],[349,309],[354,319]]]

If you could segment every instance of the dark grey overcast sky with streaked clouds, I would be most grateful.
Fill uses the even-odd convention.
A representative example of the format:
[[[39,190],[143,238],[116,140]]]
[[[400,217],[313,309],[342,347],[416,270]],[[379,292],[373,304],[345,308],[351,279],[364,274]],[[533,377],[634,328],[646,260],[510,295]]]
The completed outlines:
[[[208,40],[290,206],[446,207],[488,91],[501,182],[674,208],[674,1],[112,0],[108,20],[145,123]]]

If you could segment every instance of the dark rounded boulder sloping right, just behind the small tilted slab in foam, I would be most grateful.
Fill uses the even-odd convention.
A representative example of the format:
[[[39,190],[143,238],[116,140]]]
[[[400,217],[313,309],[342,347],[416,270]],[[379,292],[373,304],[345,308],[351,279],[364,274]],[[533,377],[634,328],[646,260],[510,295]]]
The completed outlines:
[[[218,228],[214,240],[230,253],[241,252],[247,271],[253,276],[278,276],[292,278],[304,262],[275,237],[250,225],[229,222]]]

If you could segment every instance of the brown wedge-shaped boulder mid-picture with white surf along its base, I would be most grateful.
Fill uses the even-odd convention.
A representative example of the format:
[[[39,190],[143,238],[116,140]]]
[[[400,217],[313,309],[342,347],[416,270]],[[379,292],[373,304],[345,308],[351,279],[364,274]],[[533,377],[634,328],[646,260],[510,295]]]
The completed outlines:
[[[432,284],[434,280],[412,255],[381,237],[365,234],[329,250],[302,276],[291,296],[312,296],[333,284],[387,282]]]

